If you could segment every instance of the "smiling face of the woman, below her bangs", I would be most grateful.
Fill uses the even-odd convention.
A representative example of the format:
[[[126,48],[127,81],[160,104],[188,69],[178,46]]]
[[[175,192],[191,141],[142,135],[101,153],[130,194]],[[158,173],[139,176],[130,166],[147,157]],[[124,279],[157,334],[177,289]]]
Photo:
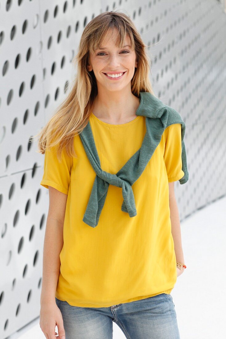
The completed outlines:
[[[130,47],[129,37],[126,36],[126,42],[123,48],[115,45],[115,38],[118,34],[114,28],[113,34],[108,33],[100,47],[94,54],[89,54],[88,71],[94,72],[96,77],[98,91],[107,89],[115,92],[121,91],[126,86],[131,88],[131,79],[135,72],[138,62],[136,60],[135,50]],[[120,74],[119,78],[110,78],[107,74]]]

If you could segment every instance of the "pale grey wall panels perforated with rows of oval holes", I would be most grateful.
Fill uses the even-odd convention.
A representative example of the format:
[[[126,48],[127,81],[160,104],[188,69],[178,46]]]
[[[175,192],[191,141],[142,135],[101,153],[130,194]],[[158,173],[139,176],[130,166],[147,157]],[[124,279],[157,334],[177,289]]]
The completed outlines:
[[[29,138],[67,95],[81,33],[99,13],[116,8],[133,19],[155,93],[186,123],[189,182],[175,182],[181,220],[225,195],[223,3],[0,1],[0,338],[39,317],[48,190],[44,155]]]

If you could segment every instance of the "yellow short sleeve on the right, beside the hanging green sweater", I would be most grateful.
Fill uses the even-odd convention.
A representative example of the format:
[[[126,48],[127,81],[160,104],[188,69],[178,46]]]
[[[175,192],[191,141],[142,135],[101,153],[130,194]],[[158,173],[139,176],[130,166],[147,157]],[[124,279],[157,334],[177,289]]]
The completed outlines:
[[[168,182],[177,181],[183,178],[182,171],[182,137],[181,124],[172,124],[165,128],[165,152],[164,161]]]

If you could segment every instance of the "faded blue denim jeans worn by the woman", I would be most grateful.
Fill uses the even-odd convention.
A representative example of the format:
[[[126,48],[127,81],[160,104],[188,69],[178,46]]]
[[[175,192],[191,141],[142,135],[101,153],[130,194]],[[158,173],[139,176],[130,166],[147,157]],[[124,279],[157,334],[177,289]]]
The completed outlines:
[[[127,339],[180,339],[170,294],[109,307],[71,306],[56,298],[65,339],[112,339],[114,321]]]

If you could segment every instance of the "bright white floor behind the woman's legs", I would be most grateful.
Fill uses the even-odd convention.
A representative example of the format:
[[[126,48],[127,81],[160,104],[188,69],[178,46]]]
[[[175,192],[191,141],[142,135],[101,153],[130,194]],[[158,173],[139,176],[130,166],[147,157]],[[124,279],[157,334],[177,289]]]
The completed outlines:
[[[181,232],[187,268],[171,292],[181,339],[226,338],[226,197],[187,218]],[[30,338],[45,338],[39,318],[19,337]],[[114,322],[113,338],[125,338]]]

